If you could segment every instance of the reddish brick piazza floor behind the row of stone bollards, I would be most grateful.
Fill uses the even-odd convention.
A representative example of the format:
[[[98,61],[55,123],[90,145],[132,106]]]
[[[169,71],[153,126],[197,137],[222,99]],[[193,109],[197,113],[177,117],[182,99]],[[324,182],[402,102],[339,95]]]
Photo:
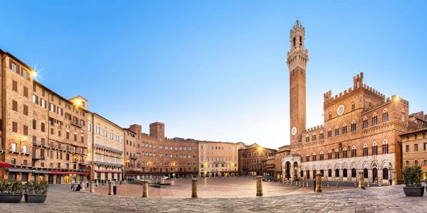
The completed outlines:
[[[156,188],[148,187],[149,197],[191,197],[191,179],[167,181],[172,184],[171,187]],[[305,184],[307,181],[305,182]],[[344,185],[343,182],[339,183]],[[314,193],[313,183],[309,181],[310,187],[297,187],[295,182],[293,185],[283,184],[283,182],[263,182],[264,195],[286,195],[300,193]],[[336,187],[336,183],[326,187],[324,183],[324,192],[354,189],[353,183],[348,183],[347,187]],[[255,179],[251,178],[199,178],[197,182],[197,194],[199,197],[212,198],[231,198],[231,197],[253,197],[256,192]],[[108,195],[107,185],[95,187],[95,193]],[[142,185],[117,185],[117,195],[141,197]]]

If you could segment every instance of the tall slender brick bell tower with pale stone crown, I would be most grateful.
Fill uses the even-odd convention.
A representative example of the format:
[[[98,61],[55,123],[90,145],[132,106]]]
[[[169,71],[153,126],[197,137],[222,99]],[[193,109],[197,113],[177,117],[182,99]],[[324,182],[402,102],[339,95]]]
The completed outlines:
[[[290,30],[288,67],[290,76],[290,144],[301,141],[305,131],[305,68],[308,55],[304,47],[305,28],[300,21]]]

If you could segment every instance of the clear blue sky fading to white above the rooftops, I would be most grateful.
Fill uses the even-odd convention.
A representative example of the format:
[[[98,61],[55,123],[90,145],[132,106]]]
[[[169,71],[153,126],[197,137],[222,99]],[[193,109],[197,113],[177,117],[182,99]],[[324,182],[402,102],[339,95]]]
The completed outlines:
[[[289,31],[305,26],[307,127],[364,82],[427,110],[427,1],[0,1],[0,48],[63,97],[170,138],[289,144]]]

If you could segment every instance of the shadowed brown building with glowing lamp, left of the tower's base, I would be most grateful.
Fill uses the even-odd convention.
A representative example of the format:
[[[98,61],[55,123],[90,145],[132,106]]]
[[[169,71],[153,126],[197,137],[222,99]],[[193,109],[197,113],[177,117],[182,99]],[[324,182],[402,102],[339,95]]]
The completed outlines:
[[[263,148],[256,143],[238,150],[238,170],[240,175],[262,175],[263,160],[275,153],[276,150]]]

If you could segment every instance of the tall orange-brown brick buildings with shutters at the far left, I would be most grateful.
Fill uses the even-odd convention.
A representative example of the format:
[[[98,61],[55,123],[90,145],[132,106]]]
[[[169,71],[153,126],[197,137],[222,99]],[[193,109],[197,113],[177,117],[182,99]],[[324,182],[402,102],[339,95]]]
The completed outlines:
[[[0,178],[86,180],[87,111],[33,80],[33,69],[14,55],[0,55]]]

